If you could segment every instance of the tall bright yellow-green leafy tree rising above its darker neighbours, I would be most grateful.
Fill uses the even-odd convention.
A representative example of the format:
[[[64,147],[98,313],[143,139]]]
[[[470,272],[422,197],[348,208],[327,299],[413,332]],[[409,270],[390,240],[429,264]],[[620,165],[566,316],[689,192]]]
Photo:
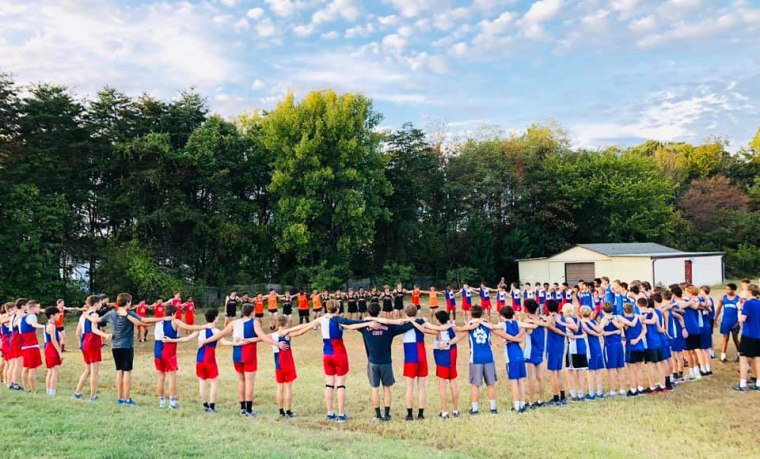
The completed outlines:
[[[277,247],[298,264],[344,266],[369,255],[384,196],[381,117],[361,95],[292,95],[264,118],[264,145],[274,155],[269,190],[276,200]]]

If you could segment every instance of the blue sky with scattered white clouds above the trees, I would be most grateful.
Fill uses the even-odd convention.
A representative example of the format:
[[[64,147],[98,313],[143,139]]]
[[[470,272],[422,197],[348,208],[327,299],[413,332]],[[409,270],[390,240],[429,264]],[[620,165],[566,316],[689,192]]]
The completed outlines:
[[[383,126],[554,120],[576,146],[760,127],[760,0],[0,0],[0,71],[215,112],[363,92]]]

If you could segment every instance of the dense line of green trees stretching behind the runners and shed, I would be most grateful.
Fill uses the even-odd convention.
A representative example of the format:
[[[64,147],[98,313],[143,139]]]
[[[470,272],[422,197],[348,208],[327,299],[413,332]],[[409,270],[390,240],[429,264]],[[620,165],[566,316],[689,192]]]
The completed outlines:
[[[587,151],[552,124],[452,147],[381,121],[330,90],[224,119],[194,90],[80,97],[0,75],[0,297],[517,280],[516,260],[580,242],[720,250],[729,274],[760,272],[760,130],[734,153]]]

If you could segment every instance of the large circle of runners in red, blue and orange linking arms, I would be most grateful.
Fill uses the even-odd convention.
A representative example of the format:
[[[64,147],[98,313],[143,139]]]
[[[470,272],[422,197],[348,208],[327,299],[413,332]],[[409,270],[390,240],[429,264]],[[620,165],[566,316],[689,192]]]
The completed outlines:
[[[154,329],[159,406],[179,408],[177,346],[195,341],[201,403],[206,412],[217,412],[216,347],[221,344],[232,347],[240,414],[245,417],[257,415],[253,398],[259,342],[268,344],[274,354],[279,414],[282,418],[295,416],[292,387],[297,372],[292,340],[310,330],[322,336],[326,417],[328,421],[341,423],[348,420],[349,359],[343,335],[352,330],[361,333],[366,348],[376,421],[391,420],[391,387],[395,384],[391,345],[399,335],[404,351],[407,420],[425,418],[427,335],[433,336],[439,416],[444,419],[460,415],[457,346],[462,340],[469,343],[468,412],[480,413],[483,386],[490,413],[498,412],[499,371],[492,337],[497,337],[504,346],[511,409],[515,412],[562,406],[568,401],[655,395],[673,390],[681,382],[709,377],[715,357],[712,336],[716,324],[722,335],[720,360],[728,361],[730,338],[737,347],[740,381],[734,389],[760,390],[757,380],[749,376],[750,369],[755,376],[760,370],[760,287],[748,279],[742,280],[740,287],[728,284],[725,295],[717,302],[707,286],[674,284],[652,288],[646,282],[626,284],[610,282],[608,278],[580,281],[573,287],[541,283],[507,286],[503,279],[496,289],[485,284],[479,288],[465,284],[456,290],[446,286],[445,308],[440,309],[439,293],[432,287],[425,291],[417,286],[405,290],[399,285],[395,290],[388,286],[382,290],[382,293],[373,288],[368,292],[349,289],[311,294],[302,290],[283,295],[273,290],[255,297],[232,292],[225,298],[221,326],[216,309],[207,309],[206,323],[196,325],[192,299],[182,301],[179,294],[169,301],[157,300],[149,305],[133,304],[127,293],[120,293],[114,303],[104,296],[89,296],[81,308],[69,308],[59,300],[55,306],[45,308],[45,325],[38,323],[39,302],[18,299],[0,308],[2,379],[10,390],[36,391],[36,372],[44,354],[46,392],[55,396],[65,351],[63,316],[77,309],[82,312],[76,336],[84,369],[72,397],[98,400],[101,349],[110,342],[116,367],[117,403],[127,406],[136,404],[131,398],[135,331],[137,339],[145,341],[149,327]],[[405,296],[409,294],[411,304],[405,305]],[[429,320],[420,317],[423,295],[428,299]],[[292,323],[294,303],[299,311],[298,325]],[[153,316],[148,317],[151,310]],[[459,310],[463,320],[457,324]],[[268,332],[263,325],[265,311],[270,314]],[[38,329],[43,330],[42,352]],[[753,379],[754,384],[750,385]],[[85,395],[88,382],[89,394]],[[552,397],[545,400],[547,385]]]

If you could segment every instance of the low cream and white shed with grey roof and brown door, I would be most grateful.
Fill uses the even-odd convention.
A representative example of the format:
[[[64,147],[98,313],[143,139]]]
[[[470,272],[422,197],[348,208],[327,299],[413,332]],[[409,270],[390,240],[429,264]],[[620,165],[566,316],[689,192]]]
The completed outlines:
[[[607,276],[652,285],[723,283],[723,252],[682,252],[649,242],[578,244],[546,258],[519,260],[520,282],[567,282]]]

